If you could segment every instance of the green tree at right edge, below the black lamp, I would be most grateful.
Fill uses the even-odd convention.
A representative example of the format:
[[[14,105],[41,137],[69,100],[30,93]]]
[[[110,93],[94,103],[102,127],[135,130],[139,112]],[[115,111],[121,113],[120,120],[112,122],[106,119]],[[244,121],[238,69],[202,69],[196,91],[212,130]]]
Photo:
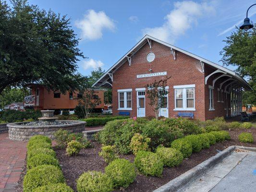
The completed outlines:
[[[244,94],[243,104],[256,105],[256,24],[248,31],[236,28],[224,42],[221,61],[226,66],[236,66],[236,72],[248,78],[253,91]]]

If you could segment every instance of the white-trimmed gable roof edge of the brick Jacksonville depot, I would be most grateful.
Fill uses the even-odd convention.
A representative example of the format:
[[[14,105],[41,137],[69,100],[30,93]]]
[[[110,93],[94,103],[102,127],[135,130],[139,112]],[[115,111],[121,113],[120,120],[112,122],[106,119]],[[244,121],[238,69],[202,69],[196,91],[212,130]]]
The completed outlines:
[[[188,56],[191,56],[197,60],[202,61],[203,63],[206,63],[216,69],[219,69],[229,75],[231,75],[235,80],[237,80],[238,82],[240,82],[241,84],[243,84],[244,88],[247,90],[252,90],[252,87],[244,80],[244,78],[242,78],[241,76],[239,76],[236,72],[233,72],[232,70],[229,70],[225,67],[222,67],[214,62],[211,62],[209,60],[206,60],[202,57],[199,57],[198,55],[195,55],[191,52],[188,52],[186,50],[183,50],[182,48],[178,48],[175,47],[169,43],[166,43],[164,41],[161,41],[155,37],[146,35],[144,36],[133,48],[131,48],[120,60],[118,60],[112,67],[110,67],[110,69],[105,72],[92,86],[93,87],[110,87],[110,82],[111,82],[111,73],[114,73],[119,67],[122,66],[122,64],[124,64],[127,61],[127,57],[132,57],[140,48],[142,48],[147,42],[148,40],[152,40],[152,41],[156,41],[162,45],[165,45],[169,48],[172,48],[174,50],[177,50],[179,52],[182,52]],[[106,84],[104,84],[106,83]]]

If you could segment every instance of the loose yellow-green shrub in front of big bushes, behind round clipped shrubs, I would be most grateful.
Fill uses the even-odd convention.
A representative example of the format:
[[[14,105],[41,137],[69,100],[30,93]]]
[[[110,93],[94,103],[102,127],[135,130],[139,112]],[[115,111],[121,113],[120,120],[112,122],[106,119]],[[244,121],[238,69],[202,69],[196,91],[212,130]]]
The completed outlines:
[[[138,151],[150,151],[148,146],[150,141],[150,138],[147,138],[140,133],[135,133],[130,143],[130,148],[133,154],[136,155]]]

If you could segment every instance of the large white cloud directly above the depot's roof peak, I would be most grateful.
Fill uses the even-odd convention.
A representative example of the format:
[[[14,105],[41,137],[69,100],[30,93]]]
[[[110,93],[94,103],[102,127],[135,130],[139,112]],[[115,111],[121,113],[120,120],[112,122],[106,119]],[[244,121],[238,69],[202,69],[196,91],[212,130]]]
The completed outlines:
[[[184,35],[188,29],[192,28],[193,24],[197,24],[198,18],[214,13],[213,6],[205,2],[178,1],[174,3],[174,9],[165,16],[165,23],[162,26],[145,28],[142,33],[174,43],[179,36]]]

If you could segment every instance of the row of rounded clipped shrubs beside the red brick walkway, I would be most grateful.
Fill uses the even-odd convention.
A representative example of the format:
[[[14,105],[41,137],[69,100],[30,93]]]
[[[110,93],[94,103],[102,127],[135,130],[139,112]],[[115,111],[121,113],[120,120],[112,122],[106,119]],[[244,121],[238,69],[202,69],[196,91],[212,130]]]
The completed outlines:
[[[48,137],[37,135],[29,139],[26,165],[24,192],[73,192],[65,184],[59,161]]]

